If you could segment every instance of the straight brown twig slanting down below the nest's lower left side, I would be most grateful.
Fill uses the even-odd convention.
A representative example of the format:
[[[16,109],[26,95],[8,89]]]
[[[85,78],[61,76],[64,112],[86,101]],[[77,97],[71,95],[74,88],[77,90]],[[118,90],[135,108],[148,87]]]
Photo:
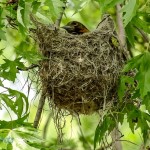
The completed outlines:
[[[41,97],[40,97],[40,100],[39,100],[36,116],[35,116],[35,119],[34,119],[34,124],[33,124],[34,128],[37,128],[38,125],[39,125],[42,110],[43,110],[43,107],[44,107],[44,104],[45,104],[45,99],[46,99],[46,90],[43,88],[42,94],[41,94]]]

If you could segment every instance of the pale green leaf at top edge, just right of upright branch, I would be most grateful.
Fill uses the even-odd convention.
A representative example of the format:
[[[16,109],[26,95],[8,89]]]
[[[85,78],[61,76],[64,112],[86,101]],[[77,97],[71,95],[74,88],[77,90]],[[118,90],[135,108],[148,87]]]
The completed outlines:
[[[137,6],[138,6],[137,0],[129,0],[128,3],[121,9],[121,12],[125,13],[123,15],[124,27],[126,27],[127,24],[136,15]]]

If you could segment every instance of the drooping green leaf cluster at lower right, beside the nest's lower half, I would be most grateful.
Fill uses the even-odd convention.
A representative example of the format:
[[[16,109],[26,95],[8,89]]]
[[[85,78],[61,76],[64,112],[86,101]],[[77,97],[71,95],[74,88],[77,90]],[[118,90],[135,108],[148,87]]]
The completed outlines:
[[[101,142],[105,134],[118,123],[123,124],[126,116],[131,131],[141,129],[144,143],[149,138],[150,124],[150,52],[138,55],[124,66],[118,87],[119,101],[117,106],[108,111],[96,130],[94,148]],[[125,99],[125,101],[124,101]],[[140,109],[145,106],[145,110]]]

